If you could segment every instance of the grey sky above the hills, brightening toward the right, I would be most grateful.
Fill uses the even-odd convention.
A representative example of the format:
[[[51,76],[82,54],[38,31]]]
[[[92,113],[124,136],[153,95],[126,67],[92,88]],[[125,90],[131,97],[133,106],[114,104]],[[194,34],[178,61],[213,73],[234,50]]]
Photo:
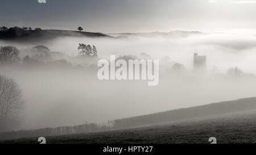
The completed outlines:
[[[118,32],[254,30],[256,0],[0,0],[0,25]]]

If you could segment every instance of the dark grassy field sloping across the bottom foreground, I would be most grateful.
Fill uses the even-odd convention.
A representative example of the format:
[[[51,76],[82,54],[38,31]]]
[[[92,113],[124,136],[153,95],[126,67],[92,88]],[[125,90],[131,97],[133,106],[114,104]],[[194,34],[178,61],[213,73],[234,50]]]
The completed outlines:
[[[256,143],[256,113],[228,114],[151,127],[46,137],[47,143]],[[38,137],[1,143],[38,143]]]

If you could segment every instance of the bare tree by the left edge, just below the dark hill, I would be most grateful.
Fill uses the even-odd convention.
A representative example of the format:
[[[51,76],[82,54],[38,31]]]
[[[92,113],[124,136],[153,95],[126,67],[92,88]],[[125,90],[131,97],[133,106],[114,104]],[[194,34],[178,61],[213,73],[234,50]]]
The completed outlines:
[[[15,62],[19,60],[19,49],[13,46],[4,46],[0,48],[0,61]]]

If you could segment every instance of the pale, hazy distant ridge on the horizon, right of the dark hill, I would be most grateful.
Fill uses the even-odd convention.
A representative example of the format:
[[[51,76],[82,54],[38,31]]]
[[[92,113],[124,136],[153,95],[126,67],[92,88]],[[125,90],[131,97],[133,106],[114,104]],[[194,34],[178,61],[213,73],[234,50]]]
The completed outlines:
[[[162,37],[187,37],[191,35],[199,35],[203,32],[199,31],[181,31],[181,30],[175,30],[171,32],[148,32],[148,33],[109,33],[110,36],[115,37],[156,37],[156,36],[162,36]]]

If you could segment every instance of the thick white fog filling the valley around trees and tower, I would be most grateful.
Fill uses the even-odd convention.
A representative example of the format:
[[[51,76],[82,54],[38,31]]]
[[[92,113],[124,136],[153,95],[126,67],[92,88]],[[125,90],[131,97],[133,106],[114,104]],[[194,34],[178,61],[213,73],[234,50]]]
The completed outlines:
[[[141,37],[106,39],[64,37],[47,43],[15,45],[20,57],[27,49],[45,45],[51,51],[77,56],[79,43],[95,45],[98,57],[139,55],[147,53],[160,60],[158,86],[147,81],[99,81],[97,69],[77,68],[2,68],[1,74],[14,78],[26,101],[23,129],[59,127],[84,123],[106,123],[108,120],[151,114],[175,108],[198,106],[224,100],[256,97],[256,77],[245,74],[229,76],[237,66],[256,75],[256,36],[241,33],[204,33],[188,37]],[[207,75],[193,73],[193,53],[207,55]],[[171,58],[186,70],[166,72]],[[161,61],[162,60],[162,61]],[[68,60],[74,66],[75,59]]]

